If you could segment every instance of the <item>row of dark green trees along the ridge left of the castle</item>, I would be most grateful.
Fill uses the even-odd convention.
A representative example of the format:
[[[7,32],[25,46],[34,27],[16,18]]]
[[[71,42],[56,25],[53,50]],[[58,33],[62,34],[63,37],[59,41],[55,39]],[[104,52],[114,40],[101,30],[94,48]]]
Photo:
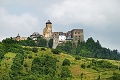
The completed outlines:
[[[52,48],[53,46],[53,39],[50,39],[49,41],[47,41],[46,39],[42,38],[42,37],[38,37],[37,40],[32,40],[31,38],[27,38],[27,40],[13,40],[13,38],[6,38],[4,40],[2,40],[2,43],[5,44],[5,46],[7,45],[11,45],[11,44],[18,44],[18,45],[22,45],[22,46],[37,46],[37,47],[49,47]]]

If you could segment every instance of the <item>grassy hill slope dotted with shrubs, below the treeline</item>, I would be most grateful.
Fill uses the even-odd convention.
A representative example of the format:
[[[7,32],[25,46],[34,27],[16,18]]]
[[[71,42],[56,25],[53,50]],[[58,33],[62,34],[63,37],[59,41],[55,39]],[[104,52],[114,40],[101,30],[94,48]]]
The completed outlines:
[[[47,73],[47,75],[43,74],[44,76],[42,77],[44,78],[42,78],[40,74],[34,75],[37,73],[37,71],[36,73],[32,72],[32,67],[34,65],[33,60],[37,57],[39,57],[40,60],[42,59],[44,60],[45,57],[41,57],[41,56],[50,56],[57,59],[54,79],[66,78],[67,80],[71,80],[71,79],[72,80],[80,80],[80,79],[81,80],[96,80],[96,79],[106,80],[112,77],[114,72],[120,73],[118,70],[119,63],[115,60],[105,60],[105,59],[95,59],[95,58],[93,59],[93,58],[84,58],[84,57],[80,57],[80,60],[76,60],[75,59],[76,56],[72,56],[64,53],[53,54],[51,52],[51,49],[41,50],[41,48],[38,47],[38,52],[35,53],[31,50],[32,48],[26,47],[26,49],[27,48],[28,50],[24,50],[24,54],[22,54],[23,58],[22,57],[17,58],[18,53],[12,53],[12,52],[8,52],[4,55],[4,58],[0,62],[0,80],[9,80],[13,75],[18,76],[15,79],[20,79],[20,80],[28,80],[28,77],[29,77],[29,80],[34,80],[34,79],[49,80],[50,74],[52,73]],[[65,59],[70,60],[70,66],[62,65]],[[19,62],[20,63],[22,62],[22,63],[18,64]],[[46,62],[47,60],[44,63]],[[18,69],[13,66],[15,65],[15,63],[16,65],[21,65],[19,67],[20,73],[17,73],[17,71],[15,71],[15,69]],[[50,63],[50,65],[51,64],[52,63]],[[106,64],[108,65],[103,66]],[[37,66],[37,64],[35,66]],[[68,73],[70,74],[70,76],[61,78],[61,72],[63,67],[67,67],[70,70],[70,73]],[[13,72],[16,72],[17,74]]]

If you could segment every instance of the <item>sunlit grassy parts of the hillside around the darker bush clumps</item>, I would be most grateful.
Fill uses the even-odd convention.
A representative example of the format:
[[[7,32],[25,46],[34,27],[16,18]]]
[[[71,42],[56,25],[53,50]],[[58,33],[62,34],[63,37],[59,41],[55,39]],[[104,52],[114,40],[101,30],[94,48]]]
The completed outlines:
[[[17,53],[6,53],[4,55],[4,58],[0,62],[0,80],[9,80],[9,73],[11,71],[11,66],[13,65],[13,60],[16,57]],[[94,67],[93,65],[88,66],[92,63],[93,58],[84,58],[81,57],[80,60],[76,60],[75,56],[69,55],[69,54],[53,54],[51,52],[51,49],[46,49],[46,50],[41,50],[41,48],[38,47],[38,52],[34,53],[32,51],[25,51],[24,52],[24,61],[23,65],[21,67],[21,72],[28,75],[31,72],[31,67],[32,67],[32,61],[36,57],[40,57],[43,55],[48,55],[51,57],[56,58],[57,61],[57,66],[56,66],[56,72],[55,75],[58,77],[60,76],[61,70],[62,70],[62,63],[64,59],[70,60],[70,66],[67,66],[68,69],[70,70],[70,75],[71,77],[66,78],[67,80],[106,80],[110,77],[113,76],[113,73],[120,73],[118,70],[118,65],[119,63],[115,60],[104,60],[112,63],[112,65],[116,65],[114,68],[101,68]],[[101,61],[101,59],[95,59],[96,61]],[[102,59],[103,60],[103,59]],[[81,67],[81,65],[84,64],[84,68]],[[26,67],[26,66],[27,67]],[[20,80],[27,80],[23,77],[20,77]],[[40,79],[42,80],[42,79]]]

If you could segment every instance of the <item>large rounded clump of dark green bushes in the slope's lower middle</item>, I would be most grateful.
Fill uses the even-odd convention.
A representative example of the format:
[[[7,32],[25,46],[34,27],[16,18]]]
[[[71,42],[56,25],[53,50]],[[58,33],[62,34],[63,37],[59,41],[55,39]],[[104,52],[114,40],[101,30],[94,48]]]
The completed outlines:
[[[34,75],[55,77],[57,59],[50,56],[41,56],[33,59],[31,71]]]

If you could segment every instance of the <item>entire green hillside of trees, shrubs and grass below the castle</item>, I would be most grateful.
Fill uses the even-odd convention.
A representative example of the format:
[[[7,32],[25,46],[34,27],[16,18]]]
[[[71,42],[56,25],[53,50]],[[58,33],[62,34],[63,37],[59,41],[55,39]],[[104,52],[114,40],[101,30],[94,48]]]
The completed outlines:
[[[85,79],[85,77],[89,77],[89,75],[84,73],[84,71],[89,72],[88,68],[93,73],[95,72],[96,78],[98,77],[97,80],[100,80],[104,74],[108,75],[109,73],[109,71],[104,73],[104,70],[112,70],[112,72],[119,70],[118,65],[115,66],[107,60],[85,58],[117,59],[119,57],[117,50],[111,51],[103,48],[99,41],[95,42],[92,38],[87,40],[87,42],[79,41],[78,45],[67,42],[58,46],[57,49],[47,48],[47,41],[43,44],[38,44],[39,40],[35,42],[28,38],[25,41],[18,42],[12,38],[7,38],[0,42],[1,80]],[[51,43],[51,41],[49,42]],[[76,55],[73,55],[74,57],[67,56],[61,51]],[[93,74],[92,72],[90,73]],[[97,73],[100,73],[100,75]],[[120,75],[118,73],[110,74],[107,77],[108,80],[119,80]],[[77,78],[74,78],[74,76],[77,76]]]

